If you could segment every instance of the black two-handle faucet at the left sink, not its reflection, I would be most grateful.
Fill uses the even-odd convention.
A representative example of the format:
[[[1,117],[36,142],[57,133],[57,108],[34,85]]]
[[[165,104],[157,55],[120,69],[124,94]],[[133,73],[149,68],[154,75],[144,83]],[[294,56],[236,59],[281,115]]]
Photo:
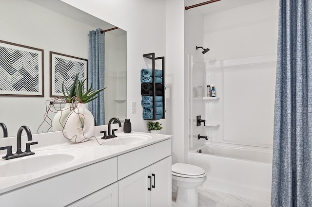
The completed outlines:
[[[25,152],[21,151],[21,133],[25,130],[27,134],[28,141],[32,141],[33,137],[31,135],[30,129],[27,126],[21,126],[18,130],[17,135],[17,151],[15,154],[12,154],[12,146],[6,146],[6,147],[0,147],[0,150],[7,150],[6,155],[3,156],[3,159],[14,159],[21,156],[27,156],[27,155],[34,155],[35,153],[31,152],[30,145],[38,144],[38,141],[26,143],[26,150]]]

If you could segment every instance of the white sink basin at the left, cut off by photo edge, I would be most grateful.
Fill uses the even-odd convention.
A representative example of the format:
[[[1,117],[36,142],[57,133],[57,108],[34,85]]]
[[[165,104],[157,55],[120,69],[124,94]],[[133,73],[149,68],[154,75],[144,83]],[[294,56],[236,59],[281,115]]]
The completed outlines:
[[[0,177],[22,175],[59,167],[83,155],[73,149],[54,149],[33,151],[35,155],[0,161]]]

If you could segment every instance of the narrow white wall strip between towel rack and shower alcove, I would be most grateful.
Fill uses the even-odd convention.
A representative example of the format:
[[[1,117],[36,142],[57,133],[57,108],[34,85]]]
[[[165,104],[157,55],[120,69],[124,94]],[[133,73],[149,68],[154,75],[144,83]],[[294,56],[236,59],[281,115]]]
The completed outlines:
[[[187,147],[187,86],[184,71],[184,2],[166,0],[166,119],[172,134],[173,163],[185,162]]]

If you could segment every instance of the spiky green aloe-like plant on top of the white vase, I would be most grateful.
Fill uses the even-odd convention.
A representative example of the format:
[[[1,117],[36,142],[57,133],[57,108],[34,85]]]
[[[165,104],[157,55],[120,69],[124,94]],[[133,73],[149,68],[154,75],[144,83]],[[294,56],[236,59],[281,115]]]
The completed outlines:
[[[71,86],[70,91],[68,91],[68,89],[64,86],[64,83],[62,84],[62,92],[67,103],[78,102],[78,103],[86,104],[98,98],[99,97],[98,93],[106,88],[104,87],[95,91],[92,88],[92,84],[91,84],[90,88],[87,91],[85,91],[84,82],[86,80],[87,79],[84,79],[83,81],[79,81],[78,74],[77,74],[75,77],[75,81],[73,85]]]

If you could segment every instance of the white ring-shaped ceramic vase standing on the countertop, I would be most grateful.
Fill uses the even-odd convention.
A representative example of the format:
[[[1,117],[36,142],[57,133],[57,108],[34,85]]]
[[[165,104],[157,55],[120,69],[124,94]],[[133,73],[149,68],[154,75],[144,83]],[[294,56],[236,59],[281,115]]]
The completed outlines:
[[[65,124],[66,138],[74,143],[87,141],[92,137],[94,128],[94,117],[86,104],[77,104]]]

